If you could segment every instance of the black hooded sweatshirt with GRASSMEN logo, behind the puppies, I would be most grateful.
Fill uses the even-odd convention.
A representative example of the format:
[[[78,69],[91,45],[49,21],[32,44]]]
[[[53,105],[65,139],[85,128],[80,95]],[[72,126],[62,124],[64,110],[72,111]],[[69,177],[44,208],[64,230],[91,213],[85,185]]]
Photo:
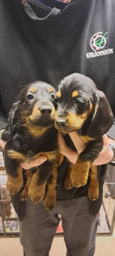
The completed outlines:
[[[61,79],[78,72],[94,80],[115,114],[115,2],[73,0],[61,11],[37,0],[2,0],[0,8],[0,129],[21,86],[42,80],[57,88]],[[113,132],[115,134],[115,132]],[[96,214],[102,200],[106,165],[99,167],[100,195],[89,201]],[[57,200],[88,194],[86,186],[64,188],[66,161],[59,167]],[[12,198],[22,219],[23,204]]]

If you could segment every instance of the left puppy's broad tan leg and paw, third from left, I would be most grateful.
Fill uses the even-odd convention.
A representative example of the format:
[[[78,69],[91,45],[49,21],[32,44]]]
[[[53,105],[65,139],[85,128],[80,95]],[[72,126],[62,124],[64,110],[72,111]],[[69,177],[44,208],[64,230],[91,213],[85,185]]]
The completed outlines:
[[[42,185],[38,185],[37,184],[38,177],[39,177],[39,169],[37,169],[37,171],[33,174],[33,177],[28,189],[28,195],[35,204],[40,202],[45,196],[46,182],[43,183]]]

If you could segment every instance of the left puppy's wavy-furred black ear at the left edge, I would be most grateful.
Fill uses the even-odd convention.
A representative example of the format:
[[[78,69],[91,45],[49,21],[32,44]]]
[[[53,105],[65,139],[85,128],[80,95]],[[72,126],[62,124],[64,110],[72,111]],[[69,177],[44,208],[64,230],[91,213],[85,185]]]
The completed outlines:
[[[14,122],[17,119],[17,114],[19,111],[20,111],[20,101],[12,105],[11,111],[9,113],[8,125],[6,126],[4,132],[2,133],[2,137],[1,137],[2,140],[7,142],[12,139]]]

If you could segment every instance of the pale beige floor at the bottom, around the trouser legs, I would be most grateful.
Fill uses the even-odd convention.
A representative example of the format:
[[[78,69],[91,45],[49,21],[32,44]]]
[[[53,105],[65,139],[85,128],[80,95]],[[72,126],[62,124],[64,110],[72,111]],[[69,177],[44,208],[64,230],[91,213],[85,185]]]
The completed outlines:
[[[19,238],[0,238],[1,256],[23,256]],[[66,248],[63,237],[55,237],[50,256],[65,256]],[[95,256],[115,255],[115,234],[113,236],[97,236]],[[39,255],[38,255],[39,256]]]

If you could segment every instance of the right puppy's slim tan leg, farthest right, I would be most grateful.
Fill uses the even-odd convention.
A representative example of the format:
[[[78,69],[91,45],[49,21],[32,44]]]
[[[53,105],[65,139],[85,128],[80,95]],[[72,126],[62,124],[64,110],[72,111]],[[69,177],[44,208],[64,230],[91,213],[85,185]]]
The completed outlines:
[[[96,200],[99,197],[99,182],[97,179],[97,166],[91,165],[91,180],[88,189],[88,197],[91,201]]]

